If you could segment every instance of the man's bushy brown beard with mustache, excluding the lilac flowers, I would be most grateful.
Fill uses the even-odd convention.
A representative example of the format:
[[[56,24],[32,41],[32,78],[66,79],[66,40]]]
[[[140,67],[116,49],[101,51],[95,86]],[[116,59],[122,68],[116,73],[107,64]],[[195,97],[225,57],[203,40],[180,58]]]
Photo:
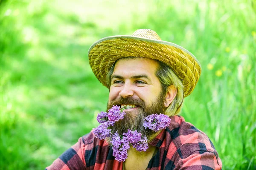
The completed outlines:
[[[130,130],[137,130],[141,133],[142,136],[146,136],[148,141],[150,142],[150,139],[154,134],[156,133],[154,130],[145,129],[143,126],[144,119],[146,116],[151,114],[159,114],[159,113],[165,113],[166,108],[164,107],[165,102],[165,95],[160,93],[159,96],[156,97],[154,101],[151,102],[149,105],[145,105],[145,102],[141,99],[133,99],[131,96],[123,98],[119,97],[117,99],[112,100],[111,102],[108,102],[108,108],[107,111],[112,108],[113,105],[137,105],[140,106],[137,108],[136,111],[129,111],[126,112],[124,115],[124,119],[121,119],[114,123],[113,126],[110,127],[111,132],[117,133],[119,135],[122,135],[123,133],[126,133],[128,129]],[[124,110],[125,112],[125,110]]]

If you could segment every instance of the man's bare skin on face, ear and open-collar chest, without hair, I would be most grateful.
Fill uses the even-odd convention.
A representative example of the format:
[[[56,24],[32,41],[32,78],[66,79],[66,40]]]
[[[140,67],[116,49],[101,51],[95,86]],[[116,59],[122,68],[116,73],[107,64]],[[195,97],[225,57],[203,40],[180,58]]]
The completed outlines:
[[[116,62],[111,76],[108,101],[119,97],[132,96],[141,99],[145,105],[151,105],[161,92],[161,84],[155,75],[158,63],[153,59],[136,58],[120,59]],[[177,94],[176,88],[169,86],[164,106],[168,107]],[[119,105],[122,105],[120,103]],[[138,106],[139,107],[139,106]],[[137,108],[125,109],[126,113],[136,114]],[[156,133],[157,135],[157,133]],[[150,146],[146,152],[139,152],[133,147],[128,150],[128,158],[124,162],[125,170],[145,170],[156,147]]]

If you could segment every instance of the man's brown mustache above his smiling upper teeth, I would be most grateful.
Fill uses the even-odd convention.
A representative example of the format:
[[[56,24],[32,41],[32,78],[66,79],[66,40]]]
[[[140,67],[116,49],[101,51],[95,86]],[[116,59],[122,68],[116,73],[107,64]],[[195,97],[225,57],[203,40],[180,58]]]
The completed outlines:
[[[123,97],[116,98],[109,103],[109,106],[112,107],[112,105],[137,105],[137,106],[141,106],[142,108],[145,108],[145,102],[143,100],[134,99],[131,96],[126,98],[123,98]]]

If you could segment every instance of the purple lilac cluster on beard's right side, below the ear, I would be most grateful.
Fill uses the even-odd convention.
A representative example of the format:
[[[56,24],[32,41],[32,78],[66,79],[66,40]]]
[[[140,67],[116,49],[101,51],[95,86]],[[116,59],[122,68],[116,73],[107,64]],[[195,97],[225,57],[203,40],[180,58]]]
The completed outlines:
[[[165,114],[151,114],[144,119],[143,126],[155,132],[165,129],[171,123],[169,116]]]

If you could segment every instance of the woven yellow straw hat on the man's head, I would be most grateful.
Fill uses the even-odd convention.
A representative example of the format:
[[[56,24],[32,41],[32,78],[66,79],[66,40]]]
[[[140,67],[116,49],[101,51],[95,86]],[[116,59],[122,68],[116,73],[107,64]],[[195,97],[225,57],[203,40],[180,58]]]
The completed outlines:
[[[116,60],[124,57],[145,57],[169,65],[184,85],[184,97],[191,94],[201,74],[198,60],[186,49],[162,41],[155,31],[139,29],[129,35],[105,37],[88,51],[90,66],[100,82],[108,87],[106,76]]]

